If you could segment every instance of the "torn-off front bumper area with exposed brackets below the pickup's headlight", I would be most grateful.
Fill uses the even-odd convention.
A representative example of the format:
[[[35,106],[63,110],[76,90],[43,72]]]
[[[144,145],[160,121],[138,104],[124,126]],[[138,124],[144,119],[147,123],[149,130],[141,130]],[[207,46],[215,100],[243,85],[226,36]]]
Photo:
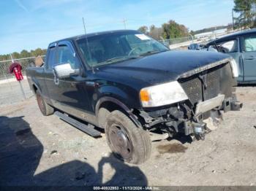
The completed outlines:
[[[236,97],[225,98],[225,95],[219,94],[215,98],[201,101],[195,109],[189,108],[186,102],[181,102],[168,109],[141,111],[140,117],[149,131],[160,130],[162,133],[168,133],[170,137],[176,133],[184,133],[187,136],[195,136],[197,140],[203,140],[205,134],[212,129],[206,119],[211,118],[211,122],[217,125],[222,119],[221,111],[238,111],[242,106]]]

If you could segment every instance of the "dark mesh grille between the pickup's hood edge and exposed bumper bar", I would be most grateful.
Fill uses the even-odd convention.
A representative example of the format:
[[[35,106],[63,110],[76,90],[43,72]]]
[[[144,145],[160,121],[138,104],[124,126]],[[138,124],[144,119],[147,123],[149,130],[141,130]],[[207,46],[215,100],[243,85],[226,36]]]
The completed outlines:
[[[220,93],[220,72],[222,67],[211,69],[206,74],[196,74],[188,79],[180,80],[181,86],[192,104],[216,97]],[[203,76],[206,85],[203,85]]]

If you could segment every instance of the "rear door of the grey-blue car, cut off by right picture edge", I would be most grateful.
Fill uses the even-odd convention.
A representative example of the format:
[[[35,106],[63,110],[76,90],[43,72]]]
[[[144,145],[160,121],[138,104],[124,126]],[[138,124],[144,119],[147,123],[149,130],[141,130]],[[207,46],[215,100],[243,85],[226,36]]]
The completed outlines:
[[[256,35],[242,38],[244,81],[256,80]]]

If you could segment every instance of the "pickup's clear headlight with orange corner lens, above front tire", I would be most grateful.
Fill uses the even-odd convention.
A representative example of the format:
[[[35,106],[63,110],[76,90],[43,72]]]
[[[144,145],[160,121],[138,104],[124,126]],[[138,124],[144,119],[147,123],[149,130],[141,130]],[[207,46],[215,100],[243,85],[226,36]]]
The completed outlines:
[[[164,106],[187,99],[187,94],[177,81],[145,87],[140,90],[140,101],[143,107]]]

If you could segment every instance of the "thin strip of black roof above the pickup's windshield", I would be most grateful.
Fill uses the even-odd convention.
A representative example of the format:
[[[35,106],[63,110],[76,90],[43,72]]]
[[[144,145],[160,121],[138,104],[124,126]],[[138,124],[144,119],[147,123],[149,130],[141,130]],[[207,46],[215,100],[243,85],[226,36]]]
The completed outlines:
[[[71,37],[68,37],[68,38],[65,38],[65,39],[59,39],[59,40],[57,40],[55,42],[51,42],[49,44],[49,47],[52,44],[55,44],[55,43],[60,42],[60,41],[65,41],[65,40],[73,41],[73,40],[83,39],[86,36],[87,37],[91,37],[91,36],[104,35],[104,34],[118,34],[118,33],[123,33],[123,32],[138,32],[138,33],[140,33],[140,31],[136,31],[136,30],[114,30],[114,31],[95,32],[95,33],[90,33],[90,34],[81,34],[81,35],[77,35],[77,36],[71,36]]]

